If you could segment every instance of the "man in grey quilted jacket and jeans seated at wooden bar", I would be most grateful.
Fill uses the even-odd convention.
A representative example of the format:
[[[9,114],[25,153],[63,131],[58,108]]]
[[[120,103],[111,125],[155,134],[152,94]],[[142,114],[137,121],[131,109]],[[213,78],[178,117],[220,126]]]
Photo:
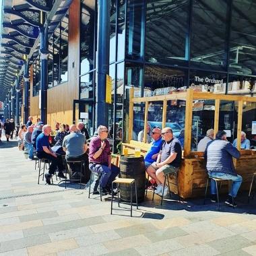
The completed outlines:
[[[227,141],[226,132],[218,131],[216,139],[207,143],[204,158],[207,160],[206,169],[210,177],[217,179],[228,179],[232,181],[232,187],[228,193],[225,203],[236,207],[232,197],[236,197],[238,189],[242,184],[242,177],[236,174],[233,157],[240,158],[240,152]],[[212,202],[216,202],[216,183],[211,180]]]

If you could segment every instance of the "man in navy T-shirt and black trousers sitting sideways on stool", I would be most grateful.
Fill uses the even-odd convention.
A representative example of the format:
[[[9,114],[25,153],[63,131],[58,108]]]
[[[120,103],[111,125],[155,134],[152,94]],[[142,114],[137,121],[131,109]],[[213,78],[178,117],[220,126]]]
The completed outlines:
[[[36,156],[40,159],[46,158],[51,161],[49,174],[44,174],[46,183],[48,183],[49,185],[51,184],[51,177],[53,174],[55,174],[57,167],[59,170],[58,177],[66,179],[66,177],[63,174],[64,168],[61,156],[57,156],[57,154],[55,154],[53,150],[51,150],[49,144],[50,133],[51,126],[44,125],[42,127],[42,133],[40,133],[40,135],[38,135],[38,137],[36,138]]]

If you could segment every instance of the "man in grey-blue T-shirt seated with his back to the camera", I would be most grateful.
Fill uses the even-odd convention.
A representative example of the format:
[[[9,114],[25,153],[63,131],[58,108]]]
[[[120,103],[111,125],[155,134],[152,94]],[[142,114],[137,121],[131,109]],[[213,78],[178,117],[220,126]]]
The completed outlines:
[[[84,161],[88,166],[88,154],[86,154],[87,150],[87,141],[86,137],[78,132],[78,129],[75,125],[71,125],[69,128],[70,134],[65,136],[62,143],[63,151],[66,152],[66,160],[67,161]],[[71,177],[73,179],[80,179],[81,166],[80,164],[70,164],[72,174]],[[88,180],[90,179],[90,174],[88,175]],[[88,181],[87,180],[87,181]],[[87,182],[86,181],[86,182]]]

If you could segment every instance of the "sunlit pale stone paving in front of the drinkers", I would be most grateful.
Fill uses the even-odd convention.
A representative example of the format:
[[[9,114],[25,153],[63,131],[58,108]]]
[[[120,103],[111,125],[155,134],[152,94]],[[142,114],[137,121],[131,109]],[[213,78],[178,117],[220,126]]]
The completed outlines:
[[[3,139],[3,137],[2,137]],[[88,199],[88,187],[37,184],[34,161],[17,141],[0,144],[0,255],[256,255],[256,199],[238,207],[177,197],[152,201],[129,216],[110,197]],[[117,203],[114,203],[117,208]]]

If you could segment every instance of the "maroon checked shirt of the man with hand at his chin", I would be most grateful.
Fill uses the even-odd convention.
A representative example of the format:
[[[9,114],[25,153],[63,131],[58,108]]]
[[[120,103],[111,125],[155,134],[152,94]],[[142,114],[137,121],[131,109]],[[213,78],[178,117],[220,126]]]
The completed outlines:
[[[100,156],[97,159],[94,159],[94,154],[100,149],[101,147],[101,139],[99,136],[94,137],[90,141],[89,146],[89,162],[95,162],[97,164],[108,164],[108,155],[111,154],[110,152],[110,143],[107,139],[105,139],[106,146]]]

